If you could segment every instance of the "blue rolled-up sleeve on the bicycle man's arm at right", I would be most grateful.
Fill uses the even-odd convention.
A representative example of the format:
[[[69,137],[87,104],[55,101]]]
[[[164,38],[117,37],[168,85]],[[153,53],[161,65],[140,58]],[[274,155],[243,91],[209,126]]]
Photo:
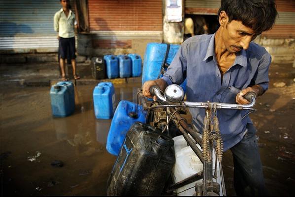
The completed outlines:
[[[263,93],[268,90],[268,70],[271,63],[271,56],[267,53],[266,57],[263,58],[263,61],[258,66],[258,69],[252,79],[253,85],[260,85],[263,88]]]

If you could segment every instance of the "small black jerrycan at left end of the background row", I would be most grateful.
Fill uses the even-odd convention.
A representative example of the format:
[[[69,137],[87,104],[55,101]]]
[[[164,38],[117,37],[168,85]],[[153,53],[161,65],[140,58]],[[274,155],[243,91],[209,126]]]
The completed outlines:
[[[94,79],[106,78],[106,66],[103,57],[94,57],[91,59],[91,71]]]

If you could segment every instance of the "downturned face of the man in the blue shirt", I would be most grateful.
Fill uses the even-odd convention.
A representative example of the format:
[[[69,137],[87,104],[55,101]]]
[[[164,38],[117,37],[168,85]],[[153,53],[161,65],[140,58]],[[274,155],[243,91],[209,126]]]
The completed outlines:
[[[255,38],[256,34],[251,28],[236,20],[227,22],[222,32],[225,47],[230,53],[248,49],[250,42]]]

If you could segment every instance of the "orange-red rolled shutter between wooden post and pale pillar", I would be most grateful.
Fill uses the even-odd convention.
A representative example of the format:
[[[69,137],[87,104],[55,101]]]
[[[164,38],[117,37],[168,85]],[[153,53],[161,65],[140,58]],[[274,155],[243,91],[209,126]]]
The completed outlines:
[[[162,31],[161,0],[89,0],[90,31]]]

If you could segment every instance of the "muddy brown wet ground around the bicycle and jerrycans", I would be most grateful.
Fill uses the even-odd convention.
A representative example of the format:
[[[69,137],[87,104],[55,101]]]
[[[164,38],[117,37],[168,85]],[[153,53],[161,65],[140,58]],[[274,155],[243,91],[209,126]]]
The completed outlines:
[[[271,195],[295,194],[294,73],[292,65],[272,65],[270,89],[251,114]],[[115,85],[117,103],[135,102],[139,87]],[[105,149],[111,120],[95,119],[93,88],[76,86],[75,113],[53,118],[49,87],[1,86],[1,195],[106,195],[116,157]],[[63,166],[52,166],[55,160]],[[235,195],[230,151],[223,169],[227,194]]]

